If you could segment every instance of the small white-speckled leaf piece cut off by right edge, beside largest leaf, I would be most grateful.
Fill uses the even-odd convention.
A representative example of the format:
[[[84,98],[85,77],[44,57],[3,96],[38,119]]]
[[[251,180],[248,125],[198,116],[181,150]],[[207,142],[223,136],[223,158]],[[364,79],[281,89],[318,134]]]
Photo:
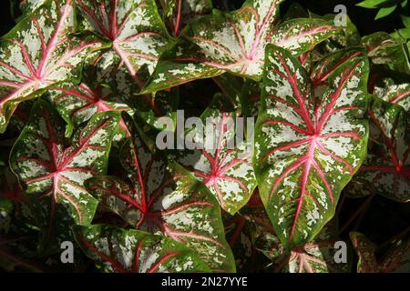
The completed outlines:
[[[374,95],[391,104],[401,105],[410,112],[410,83],[384,78],[383,85],[374,86]]]

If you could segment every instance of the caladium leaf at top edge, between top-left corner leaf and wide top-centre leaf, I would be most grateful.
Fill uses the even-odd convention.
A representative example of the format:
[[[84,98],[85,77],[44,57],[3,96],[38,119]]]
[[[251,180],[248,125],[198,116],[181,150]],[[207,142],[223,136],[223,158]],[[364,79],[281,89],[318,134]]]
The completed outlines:
[[[77,0],[77,6],[83,29],[110,45],[94,60],[97,80],[133,95],[144,83],[139,71],[151,73],[169,42],[155,0]]]

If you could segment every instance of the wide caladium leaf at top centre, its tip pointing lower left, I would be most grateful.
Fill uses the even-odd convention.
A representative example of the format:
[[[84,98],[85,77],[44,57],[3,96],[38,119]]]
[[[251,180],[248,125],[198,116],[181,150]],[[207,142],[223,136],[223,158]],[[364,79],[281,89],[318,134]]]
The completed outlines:
[[[141,94],[229,71],[260,80],[265,47],[310,50],[337,29],[321,19],[294,19],[273,27],[283,0],[248,0],[231,13],[213,10],[182,31],[159,60]]]

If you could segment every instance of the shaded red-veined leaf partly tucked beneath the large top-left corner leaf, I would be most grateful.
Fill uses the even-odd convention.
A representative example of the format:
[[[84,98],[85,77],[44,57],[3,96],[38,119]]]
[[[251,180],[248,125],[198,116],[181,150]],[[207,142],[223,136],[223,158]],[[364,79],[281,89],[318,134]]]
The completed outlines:
[[[68,82],[51,87],[48,96],[67,122],[67,136],[97,113],[127,111],[132,114],[131,108],[105,86],[95,87],[84,82],[74,85]],[[120,135],[128,135],[123,121],[119,123],[119,130]]]

